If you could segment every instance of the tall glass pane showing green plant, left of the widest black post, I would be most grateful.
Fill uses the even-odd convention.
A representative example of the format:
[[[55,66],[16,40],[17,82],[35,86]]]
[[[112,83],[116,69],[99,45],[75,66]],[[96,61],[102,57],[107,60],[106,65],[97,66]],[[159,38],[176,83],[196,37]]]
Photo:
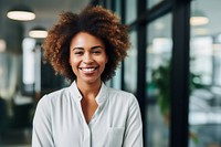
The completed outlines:
[[[149,147],[169,146],[169,78],[171,59],[171,14],[148,25],[147,46],[147,144]]]

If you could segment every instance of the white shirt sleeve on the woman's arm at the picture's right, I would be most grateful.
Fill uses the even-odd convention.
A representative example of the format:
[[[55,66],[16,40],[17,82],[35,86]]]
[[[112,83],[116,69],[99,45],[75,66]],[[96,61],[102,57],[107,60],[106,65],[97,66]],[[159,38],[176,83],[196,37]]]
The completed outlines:
[[[143,147],[143,123],[138,102],[133,95],[129,106],[123,147]]]

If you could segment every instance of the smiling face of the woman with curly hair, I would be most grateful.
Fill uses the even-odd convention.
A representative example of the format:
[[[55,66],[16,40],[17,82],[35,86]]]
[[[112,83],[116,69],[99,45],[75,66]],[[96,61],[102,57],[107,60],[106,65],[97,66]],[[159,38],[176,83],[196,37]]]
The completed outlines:
[[[86,32],[73,36],[70,44],[70,64],[77,83],[101,82],[108,59],[101,39]]]

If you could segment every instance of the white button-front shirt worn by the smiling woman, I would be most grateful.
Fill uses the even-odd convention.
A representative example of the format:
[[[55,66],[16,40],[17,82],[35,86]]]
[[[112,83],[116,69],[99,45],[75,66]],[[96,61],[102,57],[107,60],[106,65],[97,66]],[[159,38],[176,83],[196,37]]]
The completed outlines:
[[[32,147],[143,147],[143,124],[136,97],[102,84],[90,124],[73,82],[38,103]]]

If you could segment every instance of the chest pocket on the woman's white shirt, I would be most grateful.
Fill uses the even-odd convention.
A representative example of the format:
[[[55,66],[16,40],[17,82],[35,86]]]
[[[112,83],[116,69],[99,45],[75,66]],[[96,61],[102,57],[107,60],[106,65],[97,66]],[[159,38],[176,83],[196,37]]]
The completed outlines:
[[[109,128],[106,147],[122,147],[124,138],[124,128]]]

